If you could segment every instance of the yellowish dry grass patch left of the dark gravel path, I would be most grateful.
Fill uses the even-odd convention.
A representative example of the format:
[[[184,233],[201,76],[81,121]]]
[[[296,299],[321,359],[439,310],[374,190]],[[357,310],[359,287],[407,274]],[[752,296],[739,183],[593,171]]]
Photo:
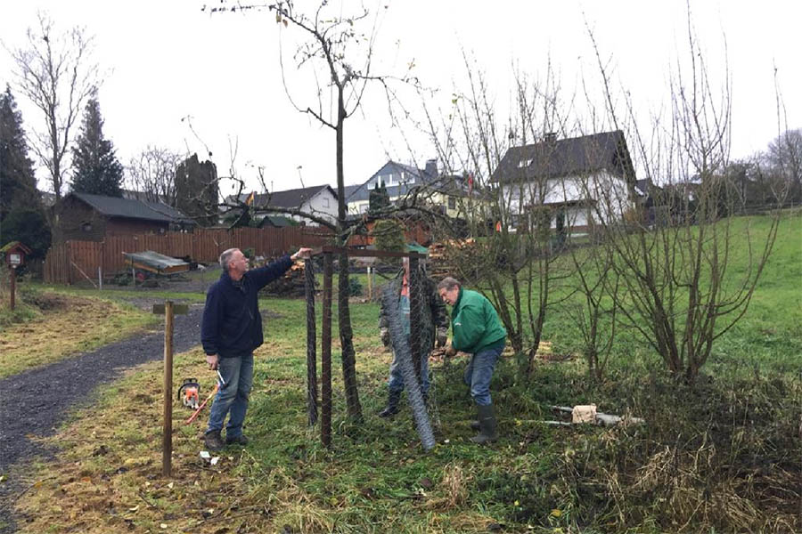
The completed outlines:
[[[152,324],[144,312],[75,295],[29,296],[38,316],[0,332],[0,378],[132,335]]]

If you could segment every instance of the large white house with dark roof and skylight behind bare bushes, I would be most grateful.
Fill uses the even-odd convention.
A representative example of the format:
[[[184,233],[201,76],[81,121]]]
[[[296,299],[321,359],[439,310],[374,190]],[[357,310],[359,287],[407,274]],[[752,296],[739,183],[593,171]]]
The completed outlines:
[[[550,227],[586,231],[620,220],[634,207],[635,174],[623,132],[570,139],[549,134],[542,142],[507,150],[491,176],[509,228]]]

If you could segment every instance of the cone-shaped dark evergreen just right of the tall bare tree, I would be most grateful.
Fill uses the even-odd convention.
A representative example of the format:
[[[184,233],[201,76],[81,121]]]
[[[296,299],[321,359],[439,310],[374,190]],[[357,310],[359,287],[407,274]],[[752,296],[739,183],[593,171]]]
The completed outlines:
[[[75,174],[72,190],[107,197],[122,197],[123,167],[114,146],[103,138],[103,119],[97,98],[86,102],[81,131],[72,149]]]

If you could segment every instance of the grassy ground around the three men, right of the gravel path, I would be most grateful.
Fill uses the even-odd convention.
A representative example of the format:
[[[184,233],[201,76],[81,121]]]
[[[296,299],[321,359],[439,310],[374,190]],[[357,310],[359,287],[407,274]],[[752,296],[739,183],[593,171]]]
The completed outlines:
[[[184,425],[174,409],[173,476],[163,478],[160,364],[137,368],[78,410],[51,441],[56,461],[26,475],[23,532],[793,532],[802,530],[802,224],[783,223],[746,317],[716,344],[703,379],[667,376],[657,356],[622,336],[606,379],[585,363],[538,360],[529,381],[514,358],[496,370],[502,439],[481,448],[464,360],[433,362],[438,445],[424,453],[408,409],[375,416],[390,354],[375,303],[351,305],[364,423],[345,417],[336,339],[333,446],[307,427],[305,304],[266,299],[247,449],[217,465],[198,456],[208,411]],[[757,225],[761,222],[757,221]],[[335,285],[336,287],[336,285]],[[317,303],[318,335],[320,303]],[[560,310],[545,339],[577,351]],[[278,314],[278,317],[274,317]],[[336,311],[334,313],[336,332]],[[335,336],[336,338],[336,336]],[[175,386],[213,376],[202,352],[176,357]],[[617,428],[545,425],[552,404],[597,404],[643,417]]]

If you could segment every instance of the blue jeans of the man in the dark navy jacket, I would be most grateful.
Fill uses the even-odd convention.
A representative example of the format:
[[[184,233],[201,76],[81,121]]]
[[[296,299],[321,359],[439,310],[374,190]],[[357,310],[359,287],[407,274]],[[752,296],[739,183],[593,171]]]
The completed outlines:
[[[220,358],[217,360],[217,369],[223,375],[225,385],[220,384],[217,390],[215,402],[209,410],[206,432],[222,430],[227,414],[225,436],[231,439],[242,435],[242,422],[245,421],[248,397],[253,386],[253,353],[236,358]]]

